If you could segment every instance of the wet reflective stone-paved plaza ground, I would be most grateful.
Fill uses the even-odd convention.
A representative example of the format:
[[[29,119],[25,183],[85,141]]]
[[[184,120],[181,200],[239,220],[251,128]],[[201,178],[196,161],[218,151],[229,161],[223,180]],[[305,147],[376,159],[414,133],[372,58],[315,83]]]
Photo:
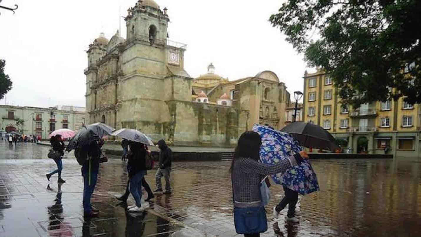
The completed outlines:
[[[125,189],[119,159],[101,164],[93,206],[100,217],[84,220],[80,166],[69,155],[57,176],[48,146],[0,144],[0,236],[235,236],[229,161],[174,162],[173,193],[157,195],[147,212],[129,214],[114,195]],[[393,160],[314,160],[321,191],[300,197],[298,225],[272,219],[282,198],[271,187],[269,229],[261,236],[418,236],[421,163]],[[146,176],[154,187],[154,172]],[[165,181],[163,181],[165,182]],[[60,192],[59,192],[60,188]],[[147,194],[146,194],[147,195]],[[133,199],[129,199],[133,204]]]

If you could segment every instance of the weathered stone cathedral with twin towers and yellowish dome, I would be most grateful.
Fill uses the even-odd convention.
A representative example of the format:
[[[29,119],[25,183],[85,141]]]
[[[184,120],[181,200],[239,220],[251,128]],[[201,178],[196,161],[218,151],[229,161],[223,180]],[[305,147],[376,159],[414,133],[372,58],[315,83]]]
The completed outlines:
[[[126,38],[104,34],[89,45],[87,124],[135,128],[176,145],[234,146],[254,123],[282,128],[290,94],[274,72],[228,80],[184,70],[186,45],[168,39],[167,9],[139,0],[125,17]]]

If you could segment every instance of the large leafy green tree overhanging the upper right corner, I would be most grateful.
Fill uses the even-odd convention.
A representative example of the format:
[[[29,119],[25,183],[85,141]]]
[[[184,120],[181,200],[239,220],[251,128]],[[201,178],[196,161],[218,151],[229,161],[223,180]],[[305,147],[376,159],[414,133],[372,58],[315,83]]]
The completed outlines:
[[[420,16],[420,0],[288,0],[269,21],[358,107],[401,96],[421,102]]]

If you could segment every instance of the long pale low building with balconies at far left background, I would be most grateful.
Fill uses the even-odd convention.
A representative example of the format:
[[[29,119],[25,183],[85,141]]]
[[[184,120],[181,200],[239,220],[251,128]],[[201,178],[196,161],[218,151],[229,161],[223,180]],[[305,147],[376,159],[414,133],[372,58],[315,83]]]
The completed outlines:
[[[85,109],[73,106],[40,108],[0,105],[0,115],[0,133],[3,137],[5,133],[16,131],[48,139],[54,130],[68,128],[77,131],[85,122]],[[22,126],[16,125],[18,118],[24,120]]]

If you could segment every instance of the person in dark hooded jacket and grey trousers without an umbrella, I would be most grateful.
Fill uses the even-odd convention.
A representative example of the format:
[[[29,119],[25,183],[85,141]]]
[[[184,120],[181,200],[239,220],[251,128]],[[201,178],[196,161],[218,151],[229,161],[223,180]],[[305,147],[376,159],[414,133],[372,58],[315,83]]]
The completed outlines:
[[[157,146],[161,150],[159,153],[159,167],[155,174],[157,189],[154,192],[162,192],[161,178],[165,178],[165,192],[171,193],[170,173],[171,161],[173,160],[173,151],[167,146],[164,140],[159,140]]]

